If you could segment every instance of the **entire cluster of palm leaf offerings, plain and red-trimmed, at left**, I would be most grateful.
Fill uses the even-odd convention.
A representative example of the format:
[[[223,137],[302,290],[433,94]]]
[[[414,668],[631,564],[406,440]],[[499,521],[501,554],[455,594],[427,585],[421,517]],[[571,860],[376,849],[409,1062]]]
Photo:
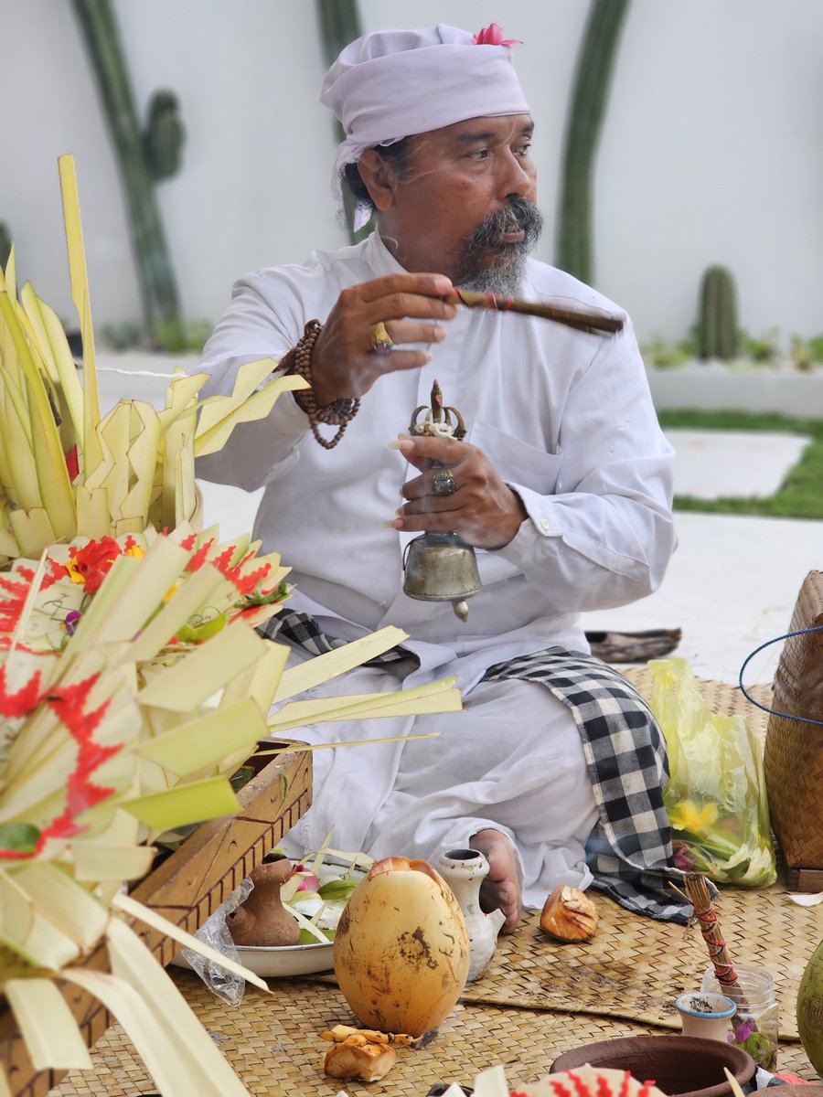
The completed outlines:
[[[37,1071],[91,1065],[68,983],[121,1021],[167,1097],[239,1097],[131,923],[266,984],[124,884],[150,870],[162,832],[238,810],[230,777],[260,740],[309,720],[453,711],[460,694],[448,680],[291,701],[405,638],[384,629],[286,670],[286,648],[253,625],[288,597],[289,569],[247,535],[221,543],[188,522],[194,457],[304,382],[264,384],[263,360],[230,396],[199,403],[205,377],[181,375],[161,411],[123,400],[101,417],[70,157],[60,179],[82,383],[56,314],[31,285],[18,295],[13,252],[0,273],[0,992]],[[101,947],[106,971],[86,963]]]

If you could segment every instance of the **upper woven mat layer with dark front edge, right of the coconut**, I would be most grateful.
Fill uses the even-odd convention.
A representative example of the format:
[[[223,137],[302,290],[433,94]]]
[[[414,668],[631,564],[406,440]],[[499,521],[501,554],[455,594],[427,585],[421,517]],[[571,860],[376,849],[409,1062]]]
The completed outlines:
[[[649,672],[630,674],[641,692]],[[751,705],[736,687],[701,682],[713,712],[741,713],[765,735],[768,716]],[[768,687],[753,695],[768,701]],[[597,892],[589,892],[600,913],[596,936],[562,945],[543,934],[537,914],[517,934],[498,938],[486,975],[470,984],[464,1002],[520,1009],[560,1010],[613,1017],[659,1028],[679,1028],[674,999],[698,989],[708,965],[697,927],[653,921],[632,915]],[[805,964],[823,935],[820,908],[791,903],[782,880],[766,890],[722,887],[715,904],[730,952],[741,966],[771,972],[780,1003],[780,1034],[798,1040],[797,991]],[[334,974],[318,976],[334,983]]]

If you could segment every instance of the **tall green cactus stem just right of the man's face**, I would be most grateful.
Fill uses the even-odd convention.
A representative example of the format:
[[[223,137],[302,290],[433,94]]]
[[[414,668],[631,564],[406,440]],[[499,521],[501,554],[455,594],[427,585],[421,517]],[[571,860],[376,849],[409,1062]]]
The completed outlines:
[[[609,80],[629,0],[593,0],[577,57],[566,124],[557,233],[557,267],[593,278],[591,173]]]

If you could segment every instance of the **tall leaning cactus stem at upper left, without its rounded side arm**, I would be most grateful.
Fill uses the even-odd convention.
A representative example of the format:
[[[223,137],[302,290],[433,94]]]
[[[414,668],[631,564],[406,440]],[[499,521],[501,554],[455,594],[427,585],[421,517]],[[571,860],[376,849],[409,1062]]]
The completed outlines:
[[[182,328],[174,272],[111,0],[74,0],[117,151],[148,330]]]

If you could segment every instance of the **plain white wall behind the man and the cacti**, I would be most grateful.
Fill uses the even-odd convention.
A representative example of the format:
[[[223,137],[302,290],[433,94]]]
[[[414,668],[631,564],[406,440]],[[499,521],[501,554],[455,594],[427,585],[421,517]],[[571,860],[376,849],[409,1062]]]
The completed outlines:
[[[538,121],[554,252],[559,161],[583,0],[361,0],[367,30],[500,22]],[[116,0],[140,110],[180,95],[180,176],[158,196],[185,313],[216,319],[233,280],[345,241],[328,191],[334,136],[312,0]],[[69,316],[56,157],[78,162],[98,326],[139,299],[116,163],[68,0],[2,0],[7,103],[0,219],[22,273]],[[823,4],[633,0],[595,181],[599,289],[642,338],[681,336],[704,267],[735,272],[754,333],[823,331]]]

